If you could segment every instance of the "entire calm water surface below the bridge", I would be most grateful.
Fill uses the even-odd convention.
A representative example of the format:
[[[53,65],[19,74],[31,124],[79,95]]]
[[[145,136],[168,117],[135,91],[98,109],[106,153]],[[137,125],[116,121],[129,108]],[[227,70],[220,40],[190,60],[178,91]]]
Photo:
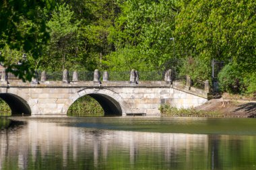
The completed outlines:
[[[0,119],[0,169],[256,169],[256,119]]]

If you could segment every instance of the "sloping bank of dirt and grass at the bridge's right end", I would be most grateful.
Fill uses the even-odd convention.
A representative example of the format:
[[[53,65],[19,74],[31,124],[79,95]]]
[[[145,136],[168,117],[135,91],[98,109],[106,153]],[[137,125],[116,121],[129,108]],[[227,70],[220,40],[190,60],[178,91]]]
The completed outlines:
[[[256,118],[256,95],[215,94],[203,105],[196,108],[173,108],[161,105],[164,117],[222,117],[222,118]]]

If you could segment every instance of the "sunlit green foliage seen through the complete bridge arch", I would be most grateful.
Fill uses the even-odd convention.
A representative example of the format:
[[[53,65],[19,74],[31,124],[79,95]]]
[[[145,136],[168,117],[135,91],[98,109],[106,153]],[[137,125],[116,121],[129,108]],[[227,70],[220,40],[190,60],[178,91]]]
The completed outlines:
[[[98,101],[86,95],[77,99],[67,111],[68,116],[104,116]]]

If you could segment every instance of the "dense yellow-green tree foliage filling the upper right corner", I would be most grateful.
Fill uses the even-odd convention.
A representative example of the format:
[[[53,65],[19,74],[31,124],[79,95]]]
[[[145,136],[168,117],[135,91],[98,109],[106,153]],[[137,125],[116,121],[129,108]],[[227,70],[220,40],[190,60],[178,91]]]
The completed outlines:
[[[179,1],[175,37],[179,56],[233,60],[255,71],[256,3],[253,0]]]

